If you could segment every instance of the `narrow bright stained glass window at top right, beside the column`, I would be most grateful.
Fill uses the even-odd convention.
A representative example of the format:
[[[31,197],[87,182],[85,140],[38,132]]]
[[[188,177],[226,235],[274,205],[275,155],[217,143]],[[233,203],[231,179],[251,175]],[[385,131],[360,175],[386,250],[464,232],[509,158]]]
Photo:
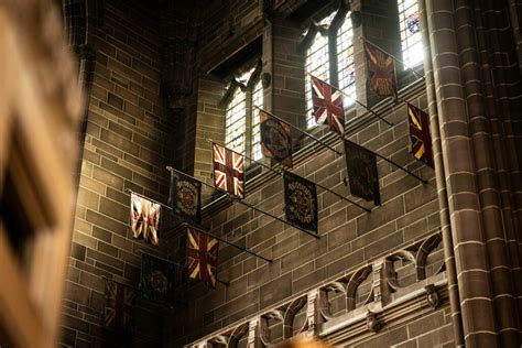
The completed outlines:
[[[423,61],[417,0],[398,0],[398,4],[402,59],[405,65],[415,67]]]

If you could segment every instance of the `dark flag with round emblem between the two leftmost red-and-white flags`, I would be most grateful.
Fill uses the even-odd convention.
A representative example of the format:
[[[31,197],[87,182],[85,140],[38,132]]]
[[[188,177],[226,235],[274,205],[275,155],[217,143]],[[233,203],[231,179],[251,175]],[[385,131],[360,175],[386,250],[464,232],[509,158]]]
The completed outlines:
[[[182,173],[171,171],[170,203],[182,219],[202,224],[202,183]]]

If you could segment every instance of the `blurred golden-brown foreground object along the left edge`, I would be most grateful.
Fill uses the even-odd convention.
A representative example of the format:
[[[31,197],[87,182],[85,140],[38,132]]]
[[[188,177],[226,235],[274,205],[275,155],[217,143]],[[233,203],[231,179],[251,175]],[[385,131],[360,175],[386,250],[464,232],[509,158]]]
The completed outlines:
[[[0,346],[54,347],[83,112],[51,0],[0,2]]]

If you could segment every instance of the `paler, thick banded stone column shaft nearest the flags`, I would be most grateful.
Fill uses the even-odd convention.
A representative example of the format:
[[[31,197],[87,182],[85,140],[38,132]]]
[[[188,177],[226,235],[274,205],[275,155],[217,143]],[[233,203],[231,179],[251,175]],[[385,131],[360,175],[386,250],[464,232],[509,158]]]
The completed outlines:
[[[444,173],[438,170],[437,174],[444,174],[446,181],[466,346],[498,347],[489,255],[454,24],[455,4],[426,3],[444,160]]]

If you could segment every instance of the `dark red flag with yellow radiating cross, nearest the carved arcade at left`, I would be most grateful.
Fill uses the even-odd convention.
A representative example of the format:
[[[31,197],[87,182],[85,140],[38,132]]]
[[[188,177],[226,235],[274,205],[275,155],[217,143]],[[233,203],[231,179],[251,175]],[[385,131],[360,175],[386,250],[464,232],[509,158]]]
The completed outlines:
[[[187,227],[188,278],[200,280],[215,289],[218,249],[216,238]]]

